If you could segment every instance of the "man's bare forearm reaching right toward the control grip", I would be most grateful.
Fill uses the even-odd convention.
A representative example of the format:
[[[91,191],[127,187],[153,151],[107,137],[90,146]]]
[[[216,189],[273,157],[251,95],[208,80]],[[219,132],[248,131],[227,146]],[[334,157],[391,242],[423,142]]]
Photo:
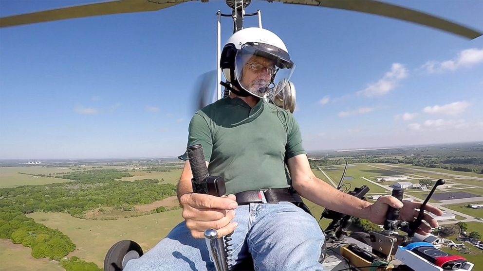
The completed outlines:
[[[315,176],[304,182],[294,182],[294,188],[302,197],[320,206],[359,218],[369,217],[366,207],[372,203],[341,192]]]

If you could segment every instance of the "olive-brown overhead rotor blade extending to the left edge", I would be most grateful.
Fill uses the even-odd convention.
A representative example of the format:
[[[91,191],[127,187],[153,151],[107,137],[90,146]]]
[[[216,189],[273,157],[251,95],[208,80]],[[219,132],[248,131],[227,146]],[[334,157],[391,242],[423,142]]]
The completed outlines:
[[[188,0],[117,0],[0,18],[0,27],[109,14],[156,11]]]

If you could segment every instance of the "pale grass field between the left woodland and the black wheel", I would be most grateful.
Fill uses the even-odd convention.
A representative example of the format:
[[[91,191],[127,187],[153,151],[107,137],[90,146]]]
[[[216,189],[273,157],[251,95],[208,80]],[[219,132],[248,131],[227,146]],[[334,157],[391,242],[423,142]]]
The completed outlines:
[[[98,267],[102,267],[104,256],[115,242],[134,240],[146,251],[183,220],[181,210],[119,220],[84,220],[67,213],[53,212],[32,213],[27,216],[70,237],[76,248],[69,257],[77,256],[94,262]]]

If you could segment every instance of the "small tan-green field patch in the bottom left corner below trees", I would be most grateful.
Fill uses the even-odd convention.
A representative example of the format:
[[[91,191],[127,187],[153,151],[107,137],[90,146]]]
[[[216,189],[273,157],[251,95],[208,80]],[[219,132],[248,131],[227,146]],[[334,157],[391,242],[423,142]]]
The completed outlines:
[[[14,244],[9,239],[0,239],[0,271],[62,271],[56,261],[36,259],[31,256],[32,250],[21,244]]]

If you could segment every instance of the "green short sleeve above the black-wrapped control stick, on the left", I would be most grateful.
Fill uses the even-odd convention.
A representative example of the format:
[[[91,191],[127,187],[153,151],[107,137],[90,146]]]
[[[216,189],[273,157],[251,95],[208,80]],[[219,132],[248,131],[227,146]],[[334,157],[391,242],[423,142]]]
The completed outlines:
[[[186,146],[201,144],[203,147],[205,161],[210,161],[211,152],[213,150],[213,140],[211,137],[211,129],[204,118],[204,113],[198,111],[195,113],[188,127],[188,144]],[[181,160],[188,160],[188,153],[178,156]]]

